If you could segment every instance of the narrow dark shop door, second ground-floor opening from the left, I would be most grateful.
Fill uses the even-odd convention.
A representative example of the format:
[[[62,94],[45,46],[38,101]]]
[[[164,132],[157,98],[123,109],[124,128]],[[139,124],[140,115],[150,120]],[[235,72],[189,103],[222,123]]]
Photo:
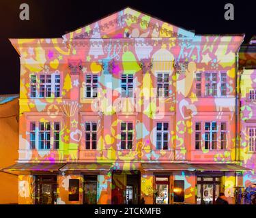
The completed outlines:
[[[97,176],[85,176],[84,204],[97,204]]]

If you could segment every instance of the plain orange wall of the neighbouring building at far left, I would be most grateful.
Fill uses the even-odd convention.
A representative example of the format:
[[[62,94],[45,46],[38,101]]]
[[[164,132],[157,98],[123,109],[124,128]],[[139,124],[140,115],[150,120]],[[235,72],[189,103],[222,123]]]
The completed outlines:
[[[14,116],[13,116],[14,115]],[[18,159],[18,98],[0,104],[0,169]],[[0,172],[0,204],[18,203],[18,176]]]

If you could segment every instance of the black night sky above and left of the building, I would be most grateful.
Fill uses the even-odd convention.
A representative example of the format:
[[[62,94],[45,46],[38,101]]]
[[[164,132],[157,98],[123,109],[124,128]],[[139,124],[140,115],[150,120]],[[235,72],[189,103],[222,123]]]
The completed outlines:
[[[29,4],[30,20],[20,20],[21,3]],[[235,20],[224,19],[225,3],[233,3]],[[0,94],[19,93],[19,57],[8,38],[61,37],[126,6],[196,34],[246,33],[246,43],[256,35],[256,1],[0,0]]]

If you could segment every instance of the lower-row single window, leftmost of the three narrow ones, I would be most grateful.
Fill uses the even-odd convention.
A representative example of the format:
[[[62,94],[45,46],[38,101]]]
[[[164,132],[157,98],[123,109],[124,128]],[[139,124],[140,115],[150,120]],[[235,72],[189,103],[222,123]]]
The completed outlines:
[[[97,149],[97,123],[85,123],[85,149]]]

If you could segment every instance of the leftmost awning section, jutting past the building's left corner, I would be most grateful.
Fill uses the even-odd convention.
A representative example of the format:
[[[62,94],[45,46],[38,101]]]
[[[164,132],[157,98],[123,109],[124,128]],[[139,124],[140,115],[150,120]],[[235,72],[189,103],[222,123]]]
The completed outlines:
[[[64,166],[64,163],[16,163],[3,171],[58,171],[59,168]]]

